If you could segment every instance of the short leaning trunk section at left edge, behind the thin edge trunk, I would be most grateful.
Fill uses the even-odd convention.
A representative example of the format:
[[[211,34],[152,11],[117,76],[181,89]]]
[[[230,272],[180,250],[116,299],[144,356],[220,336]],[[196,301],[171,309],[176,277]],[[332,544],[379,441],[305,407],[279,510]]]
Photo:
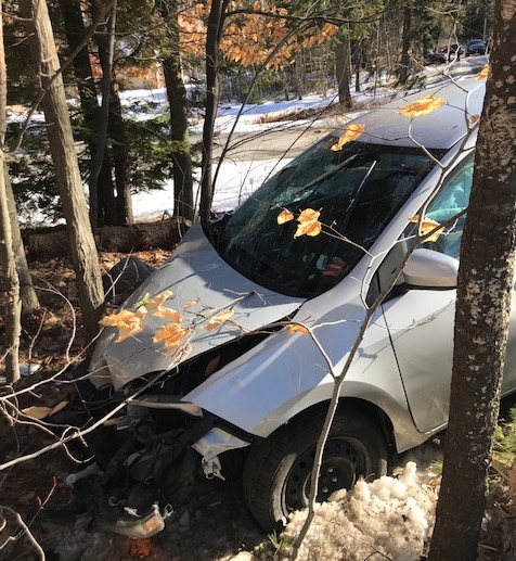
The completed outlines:
[[[16,262],[16,270],[20,280],[20,294],[22,297],[23,314],[31,314],[39,308],[39,299],[34,290],[33,279],[28,270],[27,257],[25,255],[25,247],[22,240],[22,232],[20,230],[18,216],[16,212],[16,202],[14,201],[13,188],[9,177],[8,166],[4,166],[3,173],[5,193],[9,208],[9,216],[11,221],[11,235],[13,239],[14,259]],[[2,232],[0,228],[0,233]],[[2,233],[3,239],[7,239]]]

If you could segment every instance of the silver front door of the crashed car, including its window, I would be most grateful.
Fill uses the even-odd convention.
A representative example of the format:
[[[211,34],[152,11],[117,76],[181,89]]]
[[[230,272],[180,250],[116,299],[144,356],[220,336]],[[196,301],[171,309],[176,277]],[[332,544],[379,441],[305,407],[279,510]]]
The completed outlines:
[[[467,206],[473,163],[472,155],[457,165],[428,206],[428,218],[442,222]],[[457,218],[437,242],[424,246],[459,258],[464,221],[465,215]],[[412,289],[384,304],[408,403],[422,432],[436,429],[448,420],[455,295],[456,291],[450,289]],[[516,386],[515,323],[513,311],[503,382],[505,393]]]

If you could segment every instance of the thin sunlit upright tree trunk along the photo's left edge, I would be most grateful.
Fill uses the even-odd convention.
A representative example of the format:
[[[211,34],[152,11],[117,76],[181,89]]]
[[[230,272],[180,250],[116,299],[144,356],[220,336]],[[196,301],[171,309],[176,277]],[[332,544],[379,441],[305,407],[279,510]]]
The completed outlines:
[[[16,270],[16,260],[11,233],[11,215],[8,202],[7,174],[3,153],[7,127],[7,71],[5,51],[3,48],[3,14],[2,0],[0,0],[0,265],[5,282],[4,322],[5,335],[1,355],[5,357],[5,379],[13,384],[20,379],[18,349],[20,335],[22,334],[21,314],[22,302],[20,299],[20,280]],[[17,222],[16,222],[17,224]]]

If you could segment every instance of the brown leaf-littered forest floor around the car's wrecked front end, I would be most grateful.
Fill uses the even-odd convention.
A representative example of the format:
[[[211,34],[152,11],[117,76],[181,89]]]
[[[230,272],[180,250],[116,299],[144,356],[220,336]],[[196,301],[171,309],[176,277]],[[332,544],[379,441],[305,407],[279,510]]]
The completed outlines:
[[[169,252],[160,250],[136,254],[155,267],[163,264],[168,255]],[[102,253],[100,258],[103,270],[108,270],[124,257],[125,254]],[[24,323],[22,359],[26,365],[31,362],[40,368],[35,373],[24,375],[20,387],[50,378],[66,365],[67,355],[75,358],[83,350],[80,330],[70,341],[70,334],[80,324],[80,310],[69,262],[67,258],[33,262],[30,270],[39,288],[41,309]],[[1,323],[0,318],[0,334],[3,329]],[[30,405],[52,406],[68,399],[70,388],[70,385],[52,382],[20,396],[17,406],[20,409]],[[0,462],[30,454],[52,442],[50,436],[30,424],[12,425],[8,419],[9,416],[4,415],[0,420]],[[399,459],[399,464],[414,459],[418,468],[426,468],[441,457],[440,445],[429,442],[412,451],[410,457],[404,455]],[[41,502],[49,495],[52,495],[51,500],[67,500],[68,490],[62,482],[75,471],[78,471],[77,466],[63,450],[54,450],[0,472],[0,505],[22,515],[49,561],[227,561],[235,558],[243,561],[251,559],[250,552],[262,559],[281,558],[279,554],[273,556],[271,538],[259,528],[248,512],[238,481],[225,483],[199,479],[188,506],[177,511],[165,530],[151,539],[130,539],[112,534],[99,527],[90,514],[49,520],[44,509],[40,508]],[[503,500],[500,497],[492,498],[489,522],[487,519],[479,548],[479,559],[485,561],[508,561],[514,559],[512,556],[516,552],[514,538],[511,537],[514,534],[513,515],[501,505]],[[25,537],[21,538],[12,531],[15,527],[14,514],[0,507],[0,522],[2,515],[8,525],[2,528],[0,524],[0,559],[41,559]],[[17,539],[4,541],[8,534],[11,537],[17,536]],[[377,559],[385,559],[385,556]]]

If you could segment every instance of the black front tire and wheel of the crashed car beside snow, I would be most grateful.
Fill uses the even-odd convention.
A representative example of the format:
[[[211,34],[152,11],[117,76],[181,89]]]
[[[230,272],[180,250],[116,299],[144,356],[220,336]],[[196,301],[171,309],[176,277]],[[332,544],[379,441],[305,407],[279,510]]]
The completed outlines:
[[[284,525],[293,510],[308,505],[310,474],[325,411],[315,410],[251,446],[244,468],[246,503],[266,532]],[[387,444],[380,429],[356,409],[337,412],[326,444],[318,501],[351,488],[360,476],[387,472]]]

